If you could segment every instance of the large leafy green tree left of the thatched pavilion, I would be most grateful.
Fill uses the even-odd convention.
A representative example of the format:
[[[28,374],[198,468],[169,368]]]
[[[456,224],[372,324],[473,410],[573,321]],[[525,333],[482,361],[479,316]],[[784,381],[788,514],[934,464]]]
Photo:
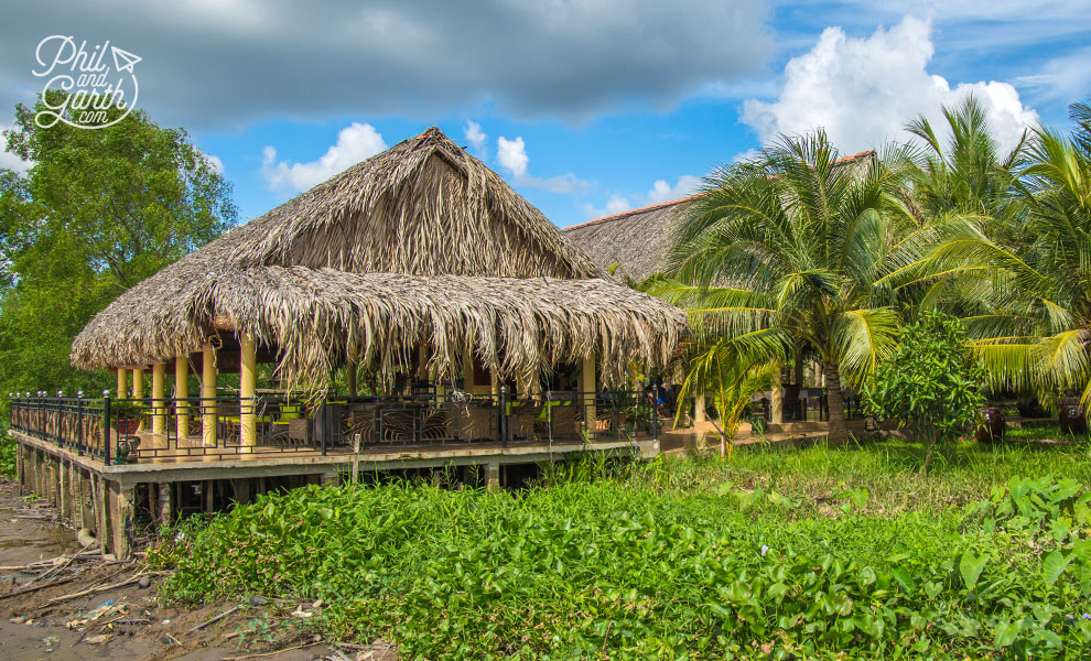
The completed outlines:
[[[104,129],[43,129],[34,122],[42,107],[17,106],[4,132],[8,150],[32,166],[0,172],[3,393],[108,386],[68,365],[76,333],[237,215],[229,184],[182,129],[139,111]]]

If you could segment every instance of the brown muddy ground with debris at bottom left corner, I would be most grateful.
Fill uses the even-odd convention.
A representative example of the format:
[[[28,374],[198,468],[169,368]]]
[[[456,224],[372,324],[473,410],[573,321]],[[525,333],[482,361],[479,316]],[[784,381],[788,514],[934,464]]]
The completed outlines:
[[[327,644],[301,631],[307,614],[321,604],[258,597],[196,609],[163,607],[155,598],[162,573],[152,572],[139,557],[120,563],[104,561],[98,553],[76,555],[79,551],[75,531],[57,523],[53,508],[22,498],[18,485],[0,478],[3,661],[397,659],[393,648],[378,641]]]

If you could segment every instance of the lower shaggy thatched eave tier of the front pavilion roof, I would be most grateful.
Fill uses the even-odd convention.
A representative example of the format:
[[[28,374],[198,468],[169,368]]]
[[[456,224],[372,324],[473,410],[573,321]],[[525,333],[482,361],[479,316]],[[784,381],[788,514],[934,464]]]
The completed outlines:
[[[601,279],[251,267],[209,272],[201,286],[159,294],[186,300],[115,302],[76,337],[73,364],[168,361],[234,328],[279,351],[279,375],[289,384],[321,387],[346,356],[390,375],[412,365],[420,346],[441,371],[461,365],[472,348],[504,377],[595,355],[604,380],[617,382],[634,359],[666,367],[688,329],[678,308]]]

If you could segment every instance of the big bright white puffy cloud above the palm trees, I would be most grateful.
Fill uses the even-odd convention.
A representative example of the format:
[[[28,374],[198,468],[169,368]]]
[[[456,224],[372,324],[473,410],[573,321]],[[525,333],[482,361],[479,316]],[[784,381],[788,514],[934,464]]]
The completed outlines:
[[[844,152],[907,140],[906,121],[923,115],[942,126],[943,105],[974,94],[985,108],[1002,149],[1013,148],[1038,113],[1023,105],[1009,83],[960,83],[953,88],[928,73],[932,57],[931,23],[906,17],[867,39],[849,39],[828,28],[810,52],[785,67],[779,97],[744,102],[742,120],[763,142],[778,133],[803,133],[822,127]]]

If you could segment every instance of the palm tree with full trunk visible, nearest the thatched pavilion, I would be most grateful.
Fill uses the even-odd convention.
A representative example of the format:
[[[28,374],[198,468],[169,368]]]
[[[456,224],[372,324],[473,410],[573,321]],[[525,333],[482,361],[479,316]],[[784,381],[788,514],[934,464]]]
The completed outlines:
[[[811,347],[831,441],[849,433],[842,378],[858,387],[894,343],[892,273],[923,238],[905,203],[908,159],[901,148],[839,163],[823,131],[782,137],[706,178],[677,229],[672,280],[655,288],[747,360]]]

